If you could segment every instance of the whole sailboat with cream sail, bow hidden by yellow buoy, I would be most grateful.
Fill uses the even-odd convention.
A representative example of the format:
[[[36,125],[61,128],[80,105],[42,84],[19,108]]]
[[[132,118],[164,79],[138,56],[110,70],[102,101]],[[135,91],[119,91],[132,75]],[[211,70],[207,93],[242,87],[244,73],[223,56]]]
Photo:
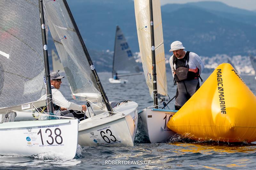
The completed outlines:
[[[164,142],[175,134],[167,127],[167,123],[176,110],[158,108],[169,100],[160,1],[135,0],[134,8],[143,71],[150,96],[154,100],[152,107],[138,113],[138,126],[141,127],[142,136],[151,143]]]

